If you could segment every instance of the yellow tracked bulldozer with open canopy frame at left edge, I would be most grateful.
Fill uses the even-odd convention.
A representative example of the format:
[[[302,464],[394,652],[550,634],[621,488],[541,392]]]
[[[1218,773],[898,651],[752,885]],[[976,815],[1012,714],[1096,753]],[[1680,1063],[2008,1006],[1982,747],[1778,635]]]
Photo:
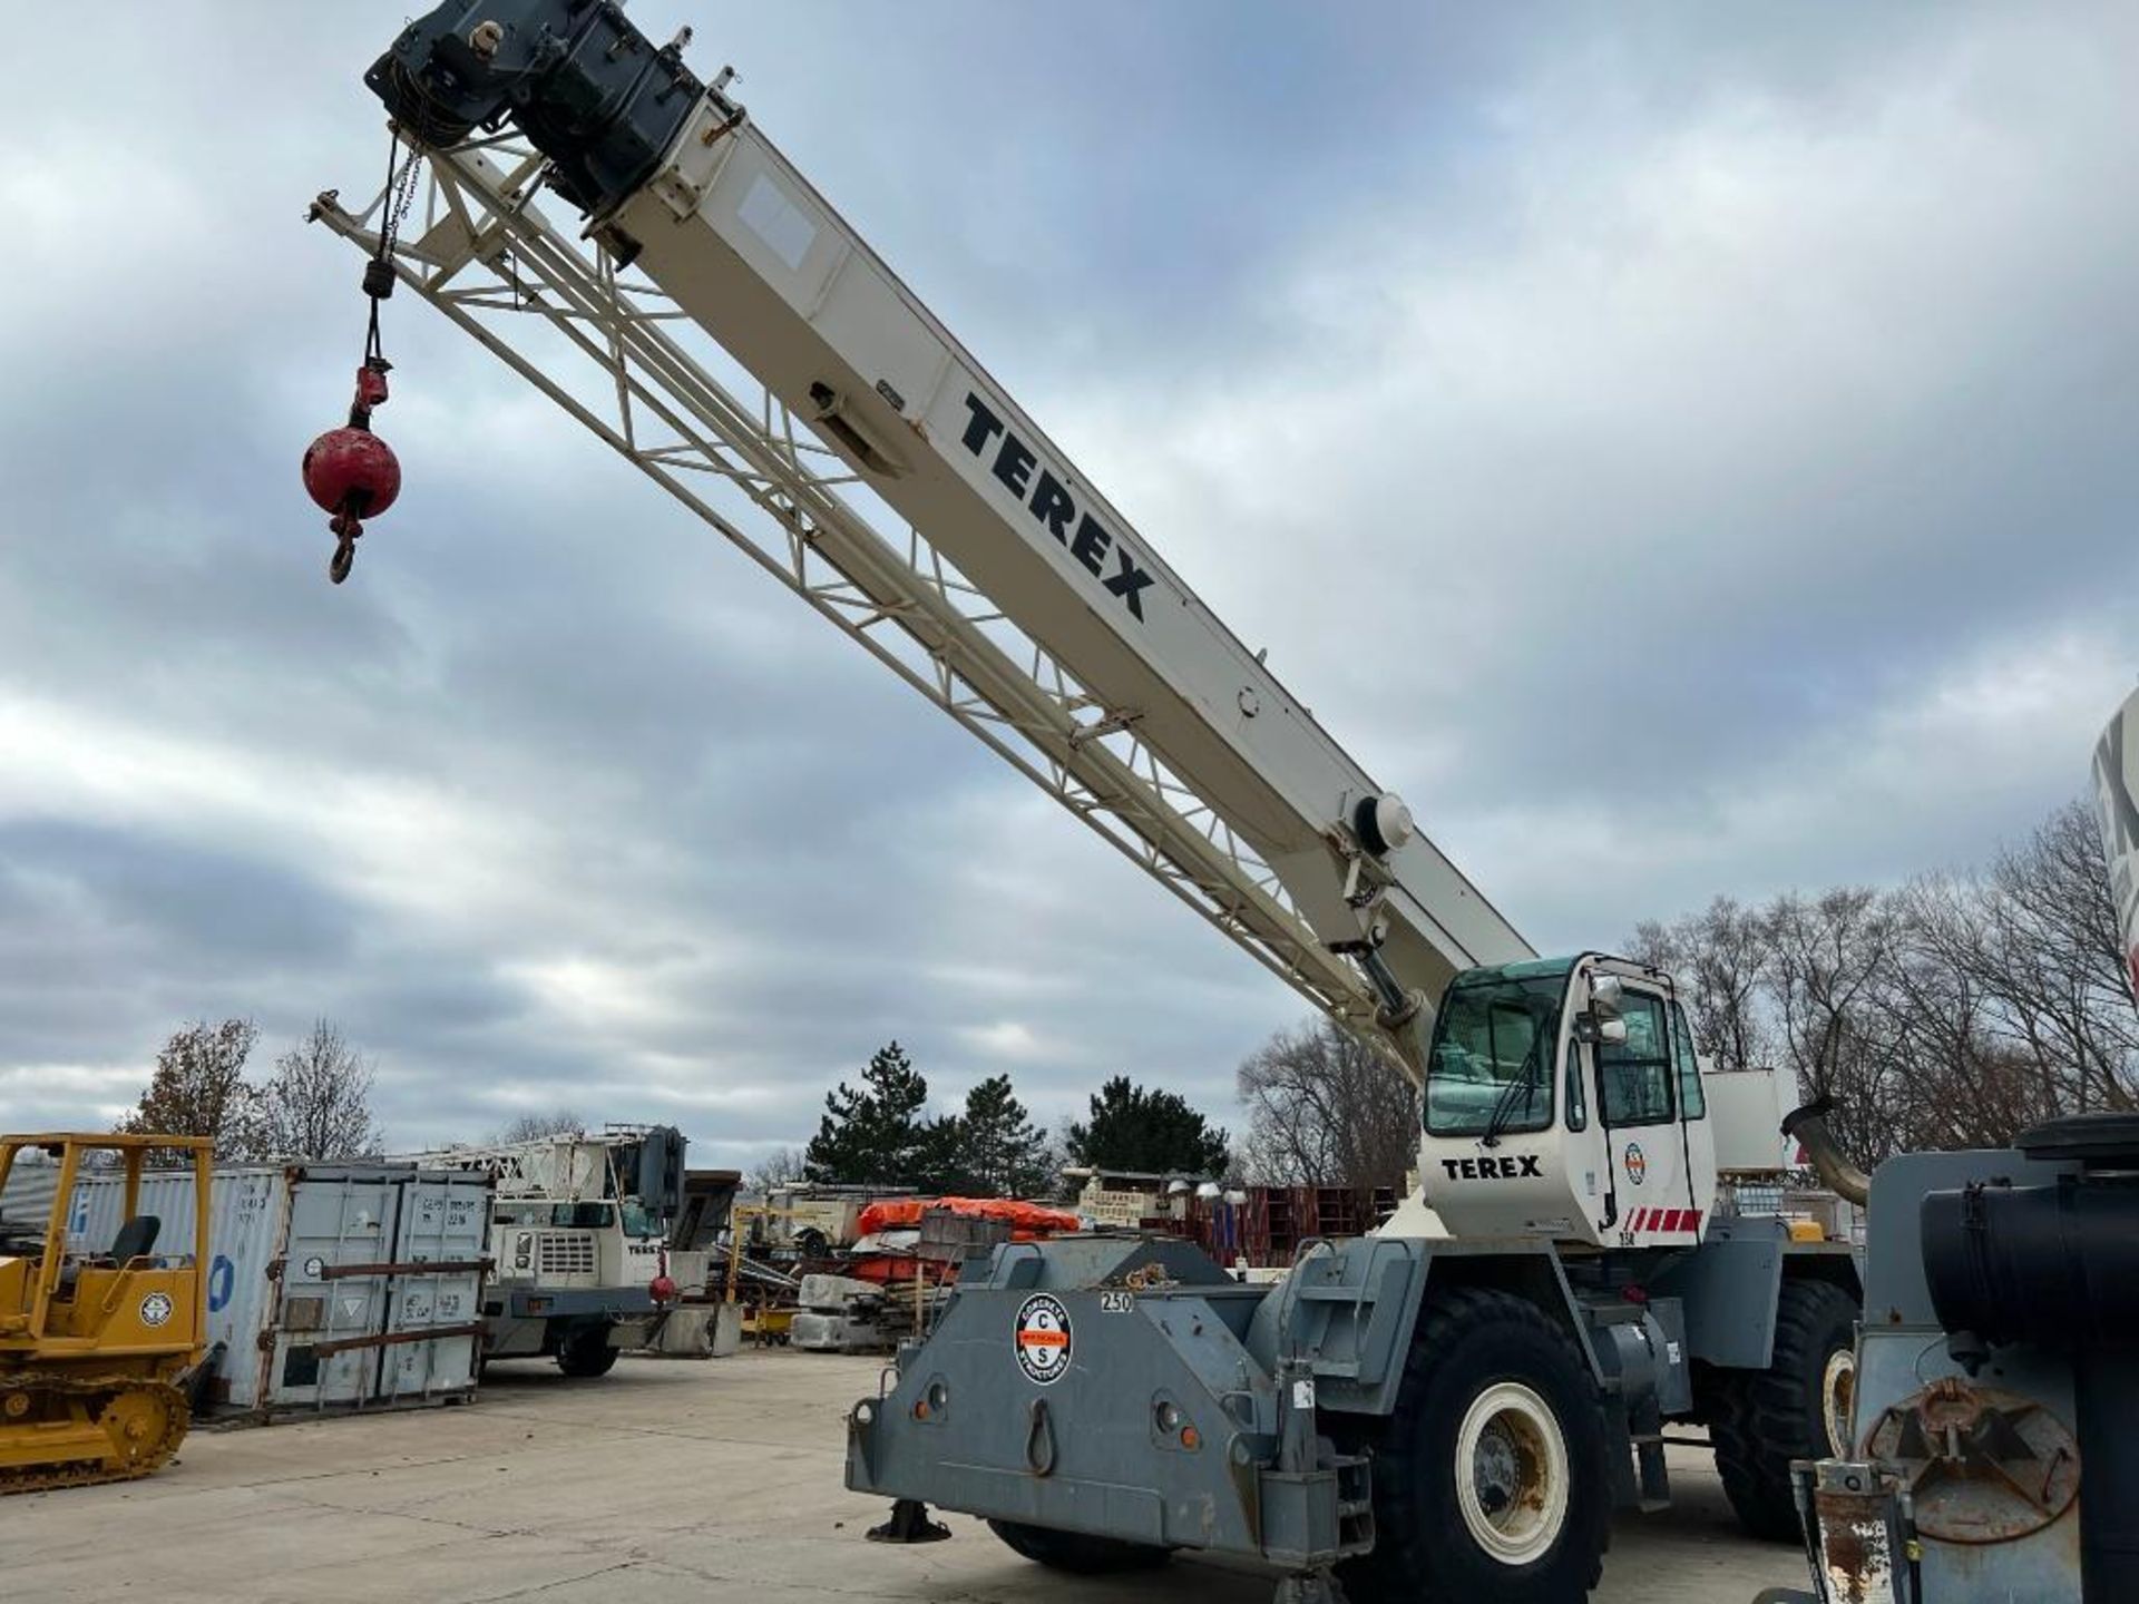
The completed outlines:
[[[0,1236],[0,1493],[148,1476],[178,1452],[193,1414],[182,1382],[207,1349],[207,1189],[203,1136],[0,1136],[0,1193],[15,1155],[56,1161],[43,1234]],[[68,1243],[75,1181],[126,1170],[109,1251]],[[150,1155],[193,1168],[193,1240],[160,1245],[139,1213]],[[158,1251],[169,1247],[171,1251]]]

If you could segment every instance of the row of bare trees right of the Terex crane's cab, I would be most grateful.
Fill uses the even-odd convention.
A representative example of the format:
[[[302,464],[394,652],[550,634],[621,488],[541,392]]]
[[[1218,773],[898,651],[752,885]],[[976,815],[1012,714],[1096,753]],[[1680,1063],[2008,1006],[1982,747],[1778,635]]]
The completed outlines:
[[[1835,1136],[1869,1168],[2139,1106],[2111,898],[2096,819],[2073,802],[1985,870],[1763,909],[1720,898],[1643,924],[1630,952],[1679,977],[1709,1059],[1833,1095]]]

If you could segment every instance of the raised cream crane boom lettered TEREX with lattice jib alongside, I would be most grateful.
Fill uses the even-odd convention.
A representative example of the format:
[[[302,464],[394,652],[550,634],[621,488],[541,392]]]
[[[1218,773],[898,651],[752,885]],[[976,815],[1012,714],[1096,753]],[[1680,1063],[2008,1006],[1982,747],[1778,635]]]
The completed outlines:
[[[727,75],[610,4],[496,0],[411,24],[368,81],[428,160],[421,229],[391,235],[391,184],[317,220],[387,231],[400,282],[1318,1007],[1422,1076],[1448,980],[1532,956]]]

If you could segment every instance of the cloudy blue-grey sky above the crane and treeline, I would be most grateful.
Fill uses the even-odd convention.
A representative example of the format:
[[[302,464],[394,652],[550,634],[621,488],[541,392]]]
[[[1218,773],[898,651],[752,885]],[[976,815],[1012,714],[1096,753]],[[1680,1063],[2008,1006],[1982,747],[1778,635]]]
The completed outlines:
[[[400,1142],[749,1163],[894,1035],[1232,1119],[1292,994],[413,297],[327,586],[302,214],[402,15],[17,30],[0,1129],[227,1014],[338,1020]],[[633,15],[1544,950],[1983,858],[2139,672],[2133,6]]]

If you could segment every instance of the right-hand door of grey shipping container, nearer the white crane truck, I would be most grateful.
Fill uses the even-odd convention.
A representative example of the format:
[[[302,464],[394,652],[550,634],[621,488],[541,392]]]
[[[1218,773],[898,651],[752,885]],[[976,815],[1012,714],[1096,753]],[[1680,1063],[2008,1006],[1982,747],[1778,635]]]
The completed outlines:
[[[475,1386],[479,1335],[460,1330],[481,1317],[490,1243],[490,1176],[419,1170],[400,1183],[400,1225],[387,1298],[387,1335],[458,1335],[385,1343],[379,1349],[379,1399],[424,1399]],[[456,1266],[421,1270],[411,1266]]]

